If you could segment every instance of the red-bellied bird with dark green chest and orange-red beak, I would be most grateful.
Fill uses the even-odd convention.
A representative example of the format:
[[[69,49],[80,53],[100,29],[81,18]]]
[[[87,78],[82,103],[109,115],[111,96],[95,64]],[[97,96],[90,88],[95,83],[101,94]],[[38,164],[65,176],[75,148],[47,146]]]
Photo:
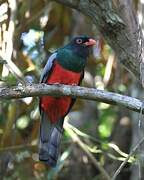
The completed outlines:
[[[57,49],[48,58],[40,83],[49,85],[80,85],[90,48],[96,40],[86,35],[74,37],[67,45]],[[40,108],[39,160],[50,167],[57,165],[65,116],[76,98],[42,96]]]

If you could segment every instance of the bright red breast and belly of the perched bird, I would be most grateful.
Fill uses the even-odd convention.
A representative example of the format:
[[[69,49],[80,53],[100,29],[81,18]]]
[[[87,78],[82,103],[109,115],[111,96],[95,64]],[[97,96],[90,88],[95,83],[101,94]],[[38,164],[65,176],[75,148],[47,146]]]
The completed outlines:
[[[60,64],[54,63],[52,72],[47,79],[47,84],[67,84],[78,85],[82,73],[76,73],[64,69]],[[71,97],[51,97],[43,96],[41,98],[41,108],[47,113],[52,123],[64,117],[69,111],[72,102]]]

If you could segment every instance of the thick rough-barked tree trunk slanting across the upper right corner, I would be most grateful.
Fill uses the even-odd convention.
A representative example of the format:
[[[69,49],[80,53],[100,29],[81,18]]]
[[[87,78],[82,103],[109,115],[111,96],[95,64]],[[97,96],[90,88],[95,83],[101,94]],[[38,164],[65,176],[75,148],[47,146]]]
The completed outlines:
[[[144,85],[144,45],[131,0],[52,0],[89,16],[119,61]]]

